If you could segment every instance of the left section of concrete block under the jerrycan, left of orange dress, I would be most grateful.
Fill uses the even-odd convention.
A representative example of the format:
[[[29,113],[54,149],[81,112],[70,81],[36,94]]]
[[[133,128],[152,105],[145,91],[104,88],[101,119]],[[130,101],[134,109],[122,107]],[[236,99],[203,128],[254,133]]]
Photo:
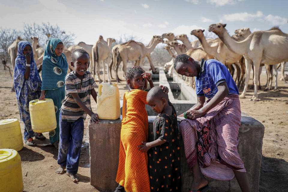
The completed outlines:
[[[90,184],[100,191],[114,191],[119,163],[121,119],[88,124]]]

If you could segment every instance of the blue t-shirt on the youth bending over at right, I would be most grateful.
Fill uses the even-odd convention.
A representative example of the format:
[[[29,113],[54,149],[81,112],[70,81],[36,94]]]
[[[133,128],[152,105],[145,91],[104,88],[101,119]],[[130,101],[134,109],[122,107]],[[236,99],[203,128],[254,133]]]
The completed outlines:
[[[202,59],[200,67],[202,71],[195,77],[197,97],[214,97],[218,91],[217,86],[224,81],[227,83],[229,94],[239,95],[236,83],[224,64],[215,59]]]

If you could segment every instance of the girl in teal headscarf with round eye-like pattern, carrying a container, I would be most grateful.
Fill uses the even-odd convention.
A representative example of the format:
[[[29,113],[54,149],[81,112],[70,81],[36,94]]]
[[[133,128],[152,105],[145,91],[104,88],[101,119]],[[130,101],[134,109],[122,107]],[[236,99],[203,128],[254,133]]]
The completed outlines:
[[[39,100],[52,99],[55,105],[57,128],[49,132],[50,143],[59,145],[59,113],[65,97],[65,76],[68,63],[63,52],[64,45],[58,38],[51,38],[44,52],[42,65],[42,91]]]

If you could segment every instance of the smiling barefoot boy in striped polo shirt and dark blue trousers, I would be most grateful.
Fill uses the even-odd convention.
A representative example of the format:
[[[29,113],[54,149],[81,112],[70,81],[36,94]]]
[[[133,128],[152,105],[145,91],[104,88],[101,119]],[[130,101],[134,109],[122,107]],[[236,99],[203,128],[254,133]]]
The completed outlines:
[[[56,173],[63,174],[64,169],[73,182],[78,182],[76,175],[79,166],[80,150],[84,132],[84,120],[87,114],[90,122],[98,123],[98,115],[91,111],[90,95],[97,102],[94,90],[96,83],[87,71],[89,54],[84,49],[72,52],[71,66],[74,71],[65,78],[65,98],[60,111],[60,141]]]

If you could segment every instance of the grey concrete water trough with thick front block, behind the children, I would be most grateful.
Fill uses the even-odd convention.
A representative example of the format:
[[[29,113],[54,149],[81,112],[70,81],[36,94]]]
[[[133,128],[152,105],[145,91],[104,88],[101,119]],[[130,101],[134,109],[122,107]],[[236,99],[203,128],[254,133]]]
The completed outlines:
[[[152,78],[157,79],[154,75]],[[175,78],[174,78],[175,79]],[[197,102],[196,92],[190,86],[183,83],[178,84],[178,92],[183,94],[187,100],[177,100],[173,90],[177,82],[168,81],[163,70],[159,73],[159,84],[165,85],[172,90],[169,92],[170,102],[174,105],[177,114],[182,114],[190,109]],[[172,79],[171,79],[172,80]],[[155,86],[159,85],[155,81]],[[120,101],[122,105],[123,101]],[[146,105],[149,120],[149,130],[153,128],[153,120],[157,115],[151,107]],[[101,120],[98,124],[88,124],[89,130],[89,151],[90,151],[90,184],[99,191],[114,191],[117,187],[115,182],[119,162],[119,142],[122,116],[117,120]],[[178,119],[178,122],[181,118]],[[239,130],[238,152],[244,161],[247,176],[250,182],[251,191],[259,191],[260,165],[262,158],[262,139],[264,126],[242,113],[241,127]],[[187,168],[187,161],[184,153],[183,140],[180,135],[181,148],[181,173],[182,191],[186,192],[193,180],[192,172]],[[141,173],[140,173],[141,174]],[[220,181],[208,178],[210,191],[241,191],[237,180]]]

